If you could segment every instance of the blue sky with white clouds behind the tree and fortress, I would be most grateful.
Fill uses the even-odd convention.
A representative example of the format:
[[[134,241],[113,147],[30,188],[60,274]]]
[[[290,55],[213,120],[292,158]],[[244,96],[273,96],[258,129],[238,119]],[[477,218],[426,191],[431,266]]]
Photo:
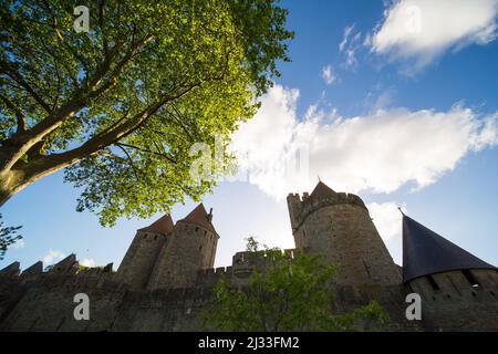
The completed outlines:
[[[404,206],[498,264],[498,3],[435,3],[282,2],[295,31],[292,62],[279,65],[282,75],[261,111],[234,136],[236,152],[249,156],[241,167],[251,177],[221,181],[204,201],[221,237],[217,266],[229,266],[248,236],[293,247],[284,196],[311,191],[317,175],[365,200],[398,263],[395,207]],[[267,168],[291,158],[297,145],[309,152],[303,176]],[[23,225],[24,239],[0,267],[75,252],[87,264],[114,262],[116,269],[135,230],[160,217],[102,228],[94,215],[75,211],[77,196],[58,173],[9,200],[1,212],[9,225]],[[174,220],[194,207],[175,207]]]

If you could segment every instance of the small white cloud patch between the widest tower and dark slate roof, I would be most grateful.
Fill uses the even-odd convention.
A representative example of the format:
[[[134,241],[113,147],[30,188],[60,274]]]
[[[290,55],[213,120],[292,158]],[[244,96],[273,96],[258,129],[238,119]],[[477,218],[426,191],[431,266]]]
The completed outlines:
[[[402,214],[395,202],[371,202],[366,206],[378,233],[384,241],[401,237]],[[402,207],[402,206],[400,206]],[[406,212],[403,208],[403,212]]]

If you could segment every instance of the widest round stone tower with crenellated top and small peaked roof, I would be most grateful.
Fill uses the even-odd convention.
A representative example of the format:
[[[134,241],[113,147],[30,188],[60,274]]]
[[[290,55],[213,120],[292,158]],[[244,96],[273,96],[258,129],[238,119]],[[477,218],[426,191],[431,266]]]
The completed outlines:
[[[311,195],[287,198],[295,247],[323,254],[339,266],[334,281],[341,284],[398,284],[394,263],[375,229],[363,200],[335,192],[320,181]]]

